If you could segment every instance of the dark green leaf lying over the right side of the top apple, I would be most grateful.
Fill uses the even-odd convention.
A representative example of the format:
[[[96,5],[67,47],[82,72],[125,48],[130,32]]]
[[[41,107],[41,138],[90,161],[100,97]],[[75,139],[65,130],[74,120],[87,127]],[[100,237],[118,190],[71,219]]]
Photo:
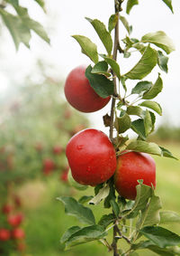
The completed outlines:
[[[102,98],[107,98],[109,95],[112,95],[113,82],[108,80],[105,76],[101,74],[93,74],[91,71],[92,67],[89,65],[86,68],[85,76],[95,92]]]

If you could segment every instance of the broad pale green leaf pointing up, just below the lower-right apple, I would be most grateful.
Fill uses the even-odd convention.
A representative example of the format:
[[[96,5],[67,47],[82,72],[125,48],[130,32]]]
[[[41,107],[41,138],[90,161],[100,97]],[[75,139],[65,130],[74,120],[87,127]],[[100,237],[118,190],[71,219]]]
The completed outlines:
[[[139,220],[139,227],[155,225],[160,222],[159,211],[162,208],[160,199],[156,195],[152,195],[145,209],[142,210]]]

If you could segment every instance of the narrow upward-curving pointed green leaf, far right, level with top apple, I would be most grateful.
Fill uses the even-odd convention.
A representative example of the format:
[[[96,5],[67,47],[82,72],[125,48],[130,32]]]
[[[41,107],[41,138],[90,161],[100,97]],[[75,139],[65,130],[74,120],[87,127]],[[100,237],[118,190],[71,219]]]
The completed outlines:
[[[157,81],[156,81],[155,84],[150,88],[150,90],[146,91],[146,92],[143,94],[142,99],[145,99],[145,100],[154,99],[155,97],[157,97],[158,93],[161,92],[162,89],[163,89],[163,81],[162,81],[160,75],[158,74]]]

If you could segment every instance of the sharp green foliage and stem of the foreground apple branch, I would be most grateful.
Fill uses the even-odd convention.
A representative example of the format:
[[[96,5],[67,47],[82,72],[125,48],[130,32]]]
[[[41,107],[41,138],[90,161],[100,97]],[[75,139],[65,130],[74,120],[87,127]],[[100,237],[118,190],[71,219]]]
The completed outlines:
[[[163,2],[173,13],[172,1]],[[155,129],[156,115],[162,115],[161,106],[154,99],[163,89],[161,73],[168,71],[168,55],[175,51],[174,43],[163,31],[142,34],[141,38],[131,37],[132,26],[126,16],[139,1],[115,0],[114,5],[115,12],[109,17],[107,27],[98,19],[85,18],[103,43],[104,53],[97,52],[97,45],[85,35],[73,35],[92,62],[85,71],[90,85],[102,98],[112,96],[111,115],[103,117],[104,126],[110,128],[110,139],[117,156],[128,149],[176,159],[168,149],[148,141],[148,135]],[[126,14],[121,14],[123,10]],[[120,23],[127,31],[121,41]],[[139,52],[139,61],[129,71],[121,72],[123,58],[131,60],[134,52]],[[153,81],[148,79],[152,71],[155,73]],[[133,140],[129,139],[129,130],[136,135]],[[76,183],[72,182],[72,185],[76,186]],[[59,197],[65,212],[82,223],[70,227],[61,237],[66,250],[77,244],[98,241],[114,256],[135,256],[143,249],[158,255],[180,255],[180,236],[164,227],[166,223],[179,223],[180,215],[163,211],[160,198],[153,188],[143,185],[143,181],[139,180],[136,189],[135,201],[125,200],[116,194],[110,179],[95,186],[94,195],[84,195],[79,200]],[[88,204],[100,202],[107,213],[97,221]],[[111,241],[108,233],[113,234]],[[127,243],[124,248],[121,240]]]

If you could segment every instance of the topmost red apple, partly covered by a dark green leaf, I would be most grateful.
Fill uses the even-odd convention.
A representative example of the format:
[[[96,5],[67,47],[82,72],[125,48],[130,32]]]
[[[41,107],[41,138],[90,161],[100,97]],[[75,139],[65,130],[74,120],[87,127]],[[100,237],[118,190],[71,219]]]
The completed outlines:
[[[85,69],[85,66],[79,66],[68,74],[64,91],[72,107],[81,112],[90,113],[103,109],[111,97],[103,99],[94,91],[85,77]]]

